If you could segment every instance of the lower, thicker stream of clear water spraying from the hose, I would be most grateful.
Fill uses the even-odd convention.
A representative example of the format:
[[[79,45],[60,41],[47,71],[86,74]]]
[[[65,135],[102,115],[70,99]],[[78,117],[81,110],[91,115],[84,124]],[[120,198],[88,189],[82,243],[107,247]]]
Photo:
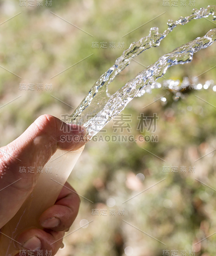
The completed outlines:
[[[191,62],[195,52],[210,46],[214,41],[216,41],[216,28],[208,31],[205,36],[197,37],[197,39],[163,55],[154,64],[138,73],[135,78],[110,97],[104,108],[96,116],[83,125],[88,132],[87,138],[92,138],[107,122],[117,116],[146,85],[155,84],[156,80],[162,77],[168,68]]]

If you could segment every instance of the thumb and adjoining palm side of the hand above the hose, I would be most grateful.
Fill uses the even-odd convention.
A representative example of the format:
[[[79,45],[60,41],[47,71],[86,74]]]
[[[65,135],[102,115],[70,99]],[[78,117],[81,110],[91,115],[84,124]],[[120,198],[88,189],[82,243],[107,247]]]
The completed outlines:
[[[81,126],[43,115],[16,140],[0,148],[1,223],[16,214],[35,187],[38,176],[36,167],[43,167],[57,148],[71,151],[81,148],[86,143],[84,134]],[[25,168],[26,172],[20,172],[21,168]]]

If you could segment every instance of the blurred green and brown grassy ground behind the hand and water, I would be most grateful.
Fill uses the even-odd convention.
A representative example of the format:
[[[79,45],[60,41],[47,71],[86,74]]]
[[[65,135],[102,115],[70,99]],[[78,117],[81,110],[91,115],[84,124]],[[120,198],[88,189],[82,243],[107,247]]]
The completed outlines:
[[[2,0],[1,146],[42,114],[65,121],[130,43],[208,4],[215,1]],[[215,24],[209,17],[175,28],[131,61],[112,88]],[[212,44],[165,75],[180,82],[198,76],[205,89],[179,99],[167,87],[153,89],[87,143],[69,178],[86,199],[58,256],[216,253],[215,51]]]

